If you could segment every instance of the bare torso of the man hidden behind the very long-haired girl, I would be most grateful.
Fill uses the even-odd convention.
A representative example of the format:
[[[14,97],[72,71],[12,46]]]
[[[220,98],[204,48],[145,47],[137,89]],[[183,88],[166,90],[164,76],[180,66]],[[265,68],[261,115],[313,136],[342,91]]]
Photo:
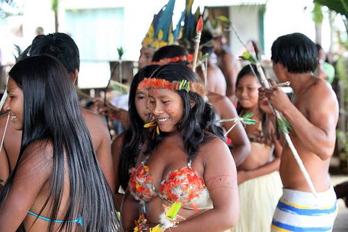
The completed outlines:
[[[100,167],[111,187],[111,191],[114,192],[115,175],[113,170],[113,160],[111,156],[111,139],[109,131],[107,130],[106,125],[104,121],[102,121],[102,118],[100,118],[100,116],[97,116],[97,114],[94,114],[93,112],[86,109],[81,109],[81,112],[90,132],[93,148],[95,148],[95,153],[97,155]],[[3,136],[3,129],[5,128],[7,117],[7,114],[0,117],[1,138]],[[8,164],[10,164],[9,171],[13,171],[13,169],[15,168],[21,141],[22,131],[15,130],[12,123],[9,121],[5,140],[3,141],[3,149],[1,150],[0,154],[1,157],[3,157],[4,155],[7,157]],[[0,163],[0,169],[3,169],[3,167],[8,167],[8,164],[6,165],[6,163]],[[5,176],[5,174],[2,174],[3,176],[0,176],[0,178],[6,180],[9,174],[10,173],[7,173],[7,176]]]

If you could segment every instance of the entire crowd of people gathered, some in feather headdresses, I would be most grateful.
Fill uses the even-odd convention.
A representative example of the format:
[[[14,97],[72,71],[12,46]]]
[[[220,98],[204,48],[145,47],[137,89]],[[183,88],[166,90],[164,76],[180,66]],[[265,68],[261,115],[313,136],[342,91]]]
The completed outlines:
[[[79,107],[79,49],[70,36],[36,36],[19,56],[0,117],[0,231],[331,231],[338,101],[314,75],[315,43],[292,33],[272,45],[274,74],[290,82],[290,99],[274,80],[260,84],[257,65],[239,70],[222,33],[203,30],[208,56],[193,70],[194,45],[182,42],[190,33],[159,41],[151,26],[127,127],[112,141],[102,116]],[[274,110],[291,125],[315,194]],[[245,115],[255,124],[237,123]]]

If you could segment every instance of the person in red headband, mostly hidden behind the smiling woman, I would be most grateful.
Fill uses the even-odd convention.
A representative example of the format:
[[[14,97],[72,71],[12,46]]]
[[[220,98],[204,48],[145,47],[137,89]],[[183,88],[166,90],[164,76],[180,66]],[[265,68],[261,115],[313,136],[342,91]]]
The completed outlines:
[[[189,61],[192,60],[189,59],[189,53],[187,50],[178,45],[161,47],[155,52],[152,59],[152,63],[161,63],[161,65],[166,63],[182,63],[189,65]],[[208,91],[207,100],[216,110],[216,121],[220,118],[226,119],[235,118],[238,116],[235,106],[226,96]],[[221,127],[227,131],[230,129],[230,127],[232,127],[233,124],[234,123],[232,121],[228,121],[221,123]],[[238,167],[238,165],[241,164],[250,153],[250,142],[248,141],[244,127],[240,123],[235,126],[234,130],[231,130],[227,134],[227,137],[231,141],[233,150],[232,155]]]

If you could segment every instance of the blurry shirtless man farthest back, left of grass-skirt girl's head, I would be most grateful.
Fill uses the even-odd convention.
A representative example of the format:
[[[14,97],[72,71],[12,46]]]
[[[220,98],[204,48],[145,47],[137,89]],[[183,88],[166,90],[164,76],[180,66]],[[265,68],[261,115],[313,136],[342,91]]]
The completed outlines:
[[[219,65],[219,68],[223,72],[223,76],[226,79],[226,96],[230,98],[233,103],[236,103],[237,99],[235,97],[235,85],[239,65],[235,61],[235,57],[233,56],[230,47],[224,44],[224,39],[226,38],[224,38],[223,35],[214,37],[214,53],[217,56],[217,64]]]

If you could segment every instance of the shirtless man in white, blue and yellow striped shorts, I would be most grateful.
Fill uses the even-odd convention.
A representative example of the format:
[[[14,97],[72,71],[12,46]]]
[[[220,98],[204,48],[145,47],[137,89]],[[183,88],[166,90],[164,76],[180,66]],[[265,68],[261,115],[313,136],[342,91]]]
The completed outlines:
[[[337,215],[328,173],[338,121],[336,95],[325,81],[313,76],[317,49],[303,34],[277,38],[271,48],[271,60],[279,81],[291,82],[294,98],[290,100],[279,88],[261,88],[260,98],[267,97],[292,125],[290,137],[317,191],[316,197],[310,193],[285,144],[280,161],[283,196],[274,213],[272,231],[331,231]]]

